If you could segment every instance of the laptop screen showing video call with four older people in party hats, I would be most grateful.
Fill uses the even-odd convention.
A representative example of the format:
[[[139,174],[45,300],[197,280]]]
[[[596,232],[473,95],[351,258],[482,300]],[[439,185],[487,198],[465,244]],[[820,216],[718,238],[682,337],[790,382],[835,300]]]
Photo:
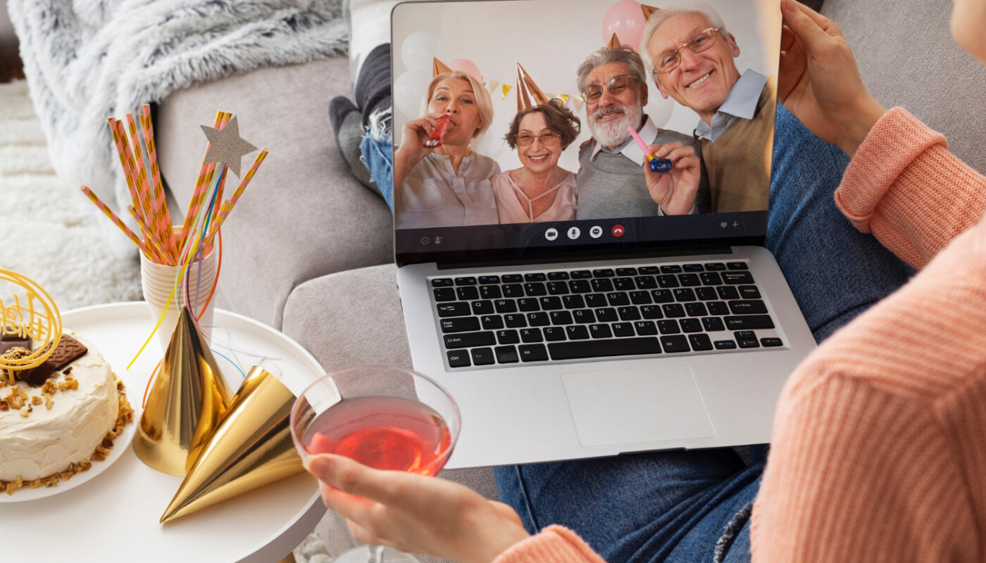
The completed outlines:
[[[765,235],[776,0],[409,2],[391,33],[398,263]]]

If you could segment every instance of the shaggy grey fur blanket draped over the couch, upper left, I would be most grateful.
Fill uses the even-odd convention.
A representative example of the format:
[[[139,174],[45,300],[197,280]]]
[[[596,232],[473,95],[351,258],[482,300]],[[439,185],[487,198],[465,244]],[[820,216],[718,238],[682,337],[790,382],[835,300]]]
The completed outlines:
[[[344,53],[348,43],[342,0],[7,0],[7,8],[54,170],[117,210],[130,197],[107,117],[194,83]]]

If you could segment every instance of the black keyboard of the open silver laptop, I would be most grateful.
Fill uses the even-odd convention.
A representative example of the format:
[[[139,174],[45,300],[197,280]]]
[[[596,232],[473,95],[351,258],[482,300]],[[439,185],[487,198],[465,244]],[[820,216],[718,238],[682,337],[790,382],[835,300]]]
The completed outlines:
[[[453,369],[784,345],[744,261],[429,283]]]

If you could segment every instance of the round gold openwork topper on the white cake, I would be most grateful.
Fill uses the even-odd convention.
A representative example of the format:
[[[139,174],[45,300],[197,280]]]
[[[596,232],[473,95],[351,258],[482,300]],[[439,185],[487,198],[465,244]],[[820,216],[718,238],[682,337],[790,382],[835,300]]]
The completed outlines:
[[[11,284],[25,293],[8,295]],[[61,332],[58,306],[48,292],[22,274],[0,269],[0,338],[30,337],[40,342],[30,354],[18,358],[0,354],[0,372],[6,374],[8,383],[14,383],[16,372],[36,368],[47,360],[61,340]]]

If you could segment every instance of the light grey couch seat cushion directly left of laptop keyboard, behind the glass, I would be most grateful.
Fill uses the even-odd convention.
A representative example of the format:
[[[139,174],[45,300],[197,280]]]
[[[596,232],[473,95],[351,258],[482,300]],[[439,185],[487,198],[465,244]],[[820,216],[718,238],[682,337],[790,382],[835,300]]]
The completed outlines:
[[[299,285],[284,307],[283,331],[329,372],[357,364],[411,365],[393,264],[338,272]],[[497,498],[488,467],[451,469],[441,476]],[[345,523],[332,513],[317,531],[332,556],[353,545]],[[419,558],[422,563],[438,561]]]

